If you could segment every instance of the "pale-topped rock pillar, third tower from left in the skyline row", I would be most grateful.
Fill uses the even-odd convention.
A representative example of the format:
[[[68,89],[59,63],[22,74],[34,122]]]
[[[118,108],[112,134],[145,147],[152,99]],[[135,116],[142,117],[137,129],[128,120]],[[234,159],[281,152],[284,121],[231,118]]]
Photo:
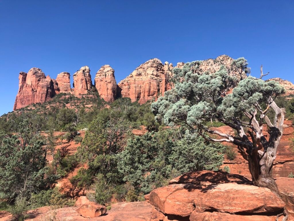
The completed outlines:
[[[92,88],[92,80],[90,68],[88,66],[81,67],[74,73],[74,92],[76,95],[86,94]]]

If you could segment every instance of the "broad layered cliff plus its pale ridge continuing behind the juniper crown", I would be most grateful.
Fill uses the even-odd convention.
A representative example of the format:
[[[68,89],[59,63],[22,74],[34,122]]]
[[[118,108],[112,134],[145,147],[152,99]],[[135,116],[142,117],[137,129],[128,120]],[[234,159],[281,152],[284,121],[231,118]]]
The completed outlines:
[[[224,65],[229,75],[237,78],[247,77],[245,73],[241,76],[237,70],[231,70],[233,58],[227,55],[221,55],[216,59],[208,59],[201,62],[198,67],[200,73],[206,71],[210,73],[217,72]],[[177,63],[177,68],[182,68],[183,62]],[[165,91],[173,88],[171,78],[173,77],[173,64],[165,62],[164,65],[157,58],[148,60],[137,67],[128,77],[118,83],[118,96],[131,98],[134,102],[138,100],[140,104],[146,103],[163,95]]]

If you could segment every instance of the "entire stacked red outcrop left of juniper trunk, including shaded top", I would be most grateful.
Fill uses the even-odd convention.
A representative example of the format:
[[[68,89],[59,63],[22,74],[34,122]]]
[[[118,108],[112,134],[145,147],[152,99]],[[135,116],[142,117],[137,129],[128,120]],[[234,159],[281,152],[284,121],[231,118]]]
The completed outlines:
[[[150,193],[150,204],[158,210],[153,210],[151,220],[273,220],[285,203],[269,189],[249,182],[221,171],[184,174]]]

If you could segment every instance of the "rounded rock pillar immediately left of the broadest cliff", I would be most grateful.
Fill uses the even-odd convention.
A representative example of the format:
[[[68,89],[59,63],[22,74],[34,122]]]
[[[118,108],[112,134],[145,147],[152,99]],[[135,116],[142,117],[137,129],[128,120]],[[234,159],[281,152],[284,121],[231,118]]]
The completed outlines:
[[[116,80],[114,70],[109,65],[103,65],[95,76],[95,87],[101,98],[113,102],[116,98]]]

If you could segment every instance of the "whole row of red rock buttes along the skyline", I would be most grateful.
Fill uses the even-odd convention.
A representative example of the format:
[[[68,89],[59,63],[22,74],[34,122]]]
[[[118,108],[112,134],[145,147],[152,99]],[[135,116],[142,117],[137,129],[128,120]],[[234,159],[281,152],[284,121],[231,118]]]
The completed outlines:
[[[218,56],[216,59],[201,61],[198,70],[201,73],[215,73],[221,66],[225,66],[229,75],[238,77],[238,70],[232,70],[233,58],[227,55]],[[143,104],[150,100],[157,100],[164,92],[173,88],[173,69],[182,68],[183,62],[178,62],[176,67],[172,63],[164,64],[157,58],[146,61],[138,66],[128,77],[116,84],[114,70],[110,65],[103,65],[95,76],[94,86],[101,98],[106,102],[113,102],[118,97],[130,98],[132,102]],[[56,80],[45,76],[41,69],[33,67],[28,73],[19,74],[19,91],[16,95],[14,110],[34,103],[44,103],[58,93],[72,93],[74,95],[87,94],[93,89],[90,68],[81,67],[73,75],[74,88],[70,85],[70,74],[61,72]],[[242,73],[242,77],[246,77]],[[280,78],[273,78],[283,85],[286,95],[294,94],[294,85]]]

